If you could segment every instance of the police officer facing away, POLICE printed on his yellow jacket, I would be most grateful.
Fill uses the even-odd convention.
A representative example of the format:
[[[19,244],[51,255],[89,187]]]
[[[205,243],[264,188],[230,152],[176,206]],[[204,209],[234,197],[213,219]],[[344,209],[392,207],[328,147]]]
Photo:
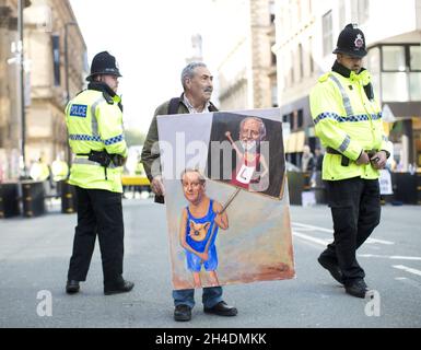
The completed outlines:
[[[104,293],[129,292],[133,283],[122,278],[124,223],[121,173],[127,159],[122,106],[116,94],[121,77],[114,56],[97,54],[87,90],[66,108],[69,143],[74,153],[69,183],[77,186],[78,225],[66,291],[78,293],[86,280],[98,235]]]

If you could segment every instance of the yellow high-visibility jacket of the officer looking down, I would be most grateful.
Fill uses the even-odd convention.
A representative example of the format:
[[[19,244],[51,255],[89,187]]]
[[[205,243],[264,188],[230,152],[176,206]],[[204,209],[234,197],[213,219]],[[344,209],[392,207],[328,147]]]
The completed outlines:
[[[350,159],[341,165],[342,155],[325,154],[323,179],[352,177],[375,179],[379,172],[371,164],[356,165],[362,151],[390,152],[383,131],[382,109],[377,101],[369,100],[364,85],[371,81],[369,71],[351,71],[350,78],[337,72],[323,75],[309,95],[316,136],[325,148],[332,148]]]

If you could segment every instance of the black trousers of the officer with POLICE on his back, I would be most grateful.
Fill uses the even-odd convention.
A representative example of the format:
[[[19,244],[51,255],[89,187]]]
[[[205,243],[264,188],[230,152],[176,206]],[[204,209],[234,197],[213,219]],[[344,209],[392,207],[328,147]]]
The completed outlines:
[[[104,287],[122,281],[124,222],[121,194],[77,187],[78,225],[68,280],[85,281],[98,235]]]

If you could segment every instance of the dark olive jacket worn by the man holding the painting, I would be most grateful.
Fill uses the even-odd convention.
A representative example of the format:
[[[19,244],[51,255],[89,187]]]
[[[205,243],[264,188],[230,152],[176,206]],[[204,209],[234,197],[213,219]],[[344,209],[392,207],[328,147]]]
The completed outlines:
[[[153,115],[153,119],[151,121],[151,126],[149,127],[147,140],[144,141],[144,144],[143,144],[141,159],[142,159],[144,171],[150,182],[152,182],[152,179],[155,176],[161,175],[161,160],[160,160],[157,145],[155,145],[156,152],[152,152],[152,148],[154,143],[159,141],[156,116],[167,115],[168,109],[169,109],[169,101],[163,103],[156,108]],[[211,103],[209,106],[209,110],[218,112],[218,108]],[[177,114],[189,114],[187,106],[183,102],[183,95],[179,98]],[[154,166],[154,168],[152,170],[152,164],[154,162],[157,162],[156,163],[157,166]],[[164,203],[164,197],[155,196],[155,202]]]

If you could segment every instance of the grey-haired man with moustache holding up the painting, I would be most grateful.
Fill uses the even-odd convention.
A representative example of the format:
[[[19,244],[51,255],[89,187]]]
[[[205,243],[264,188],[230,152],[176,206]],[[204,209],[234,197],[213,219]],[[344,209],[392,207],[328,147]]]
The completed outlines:
[[[155,194],[155,202],[163,203],[165,188],[161,175],[159,148],[154,148],[159,141],[156,116],[189,113],[217,112],[217,107],[210,102],[213,91],[213,77],[202,62],[189,63],[182,72],[184,93],[180,97],[172,98],[160,105],[152,119],[147,140],[142,150],[142,162],[151,188]],[[154,149],[154,151],[152,151]],[[191,308],[195,306],[195,290],[174,290],[174,319],[185,322],[191,319]],[[222,300],[222,287],[203,288],[203,308],[207,313],[220,316],[235,316],[237,310],[226,305]]]

